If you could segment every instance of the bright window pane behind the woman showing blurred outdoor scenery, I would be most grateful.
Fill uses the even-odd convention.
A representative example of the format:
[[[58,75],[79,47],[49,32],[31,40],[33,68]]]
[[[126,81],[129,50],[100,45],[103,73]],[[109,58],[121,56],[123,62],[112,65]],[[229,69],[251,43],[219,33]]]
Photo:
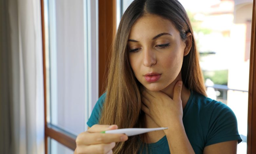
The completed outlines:
[[[121,15],[131,2],[121,0]],[[207,95],[234,111],[243,139],[238,144],[237,153],[246,153],[253,0],[180,2],[194,30]]]

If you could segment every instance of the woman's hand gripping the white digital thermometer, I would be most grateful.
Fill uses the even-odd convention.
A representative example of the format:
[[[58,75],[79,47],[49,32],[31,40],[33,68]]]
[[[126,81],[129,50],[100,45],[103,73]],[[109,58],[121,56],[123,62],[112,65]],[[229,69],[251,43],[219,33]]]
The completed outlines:
[[[128,139],[125,134],[100,133],[106,130],[117,129],[117,125],[93,125],[86,132],[80,133],[75,142],[74,154],[112,154],[115,142],[123,142]]]

